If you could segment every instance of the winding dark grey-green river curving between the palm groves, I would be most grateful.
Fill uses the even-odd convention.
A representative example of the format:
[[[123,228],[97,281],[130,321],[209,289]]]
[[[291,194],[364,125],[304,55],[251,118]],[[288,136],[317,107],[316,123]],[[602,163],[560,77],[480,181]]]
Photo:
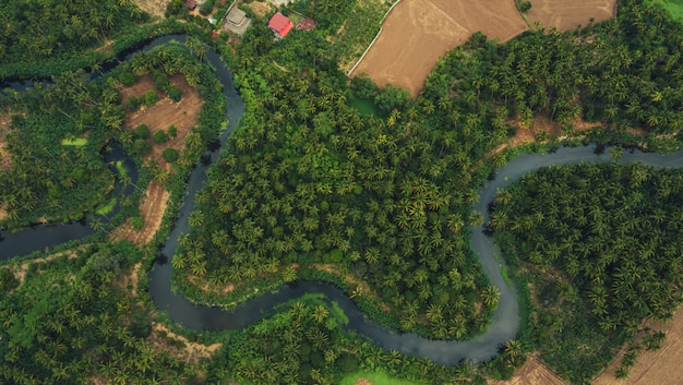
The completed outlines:
[[[157,38],[140,50],[151,49],[171,39],[183,40],[183,36],[165,36]],[[208,50],[206,60],[216,69],[216,77],[224,84],[224,94],[227,98],[227,113],[229,127],[220,134],[220,146],[223,147],[228,136],[235,131],[236,125],[244,113],[244,103],[239,93],[235,88],[231,72],[220,60],[218,53]],[[219,153],[214,151],[208,154],[211,163],[217,160]],[[503,189],[510,183],[517,180],[527,172],[534,171],[540,167],[567,165],[580,161],[613,161],[607,155],[596,154],[592,146],[585,147],[562,147],[552,154],[531,154],[522,155],[510,161],[505,167],[496,170],[498,176],[494,180],[487,182],[479,192],[479,202],[474,205],[474,209],[484,214],[484,221],[488,222],[489,214],[487,205],[493,201],[498,189]],[[654,167],[681,167],[683,166],[683,152],[669,155],[650,154],[643,152],[625,152],[620,161],[639,161]],[[178,237],[190,231],[188,224],[189,214],[194,209],[194,196],[202,188],[206,179],[206,165],[197,164],[192,171],[184,201],[181,205],[179,219],[166,240],[161,254],[173,255],[178,245]],[[71,226],[71,225],[61,225]],[[65,228],[70,232],[70,228]],[[36,232],[32,232],[36,231]],[[32,244],[33,240],[43,237],[40,231],[48,236],[50,228],[37,228],[26,230],[26,234],[16,238],[11,242],[27,242]],[[75,231],[75,230],[74,230]],[[482,227],[471,228],[471,249],[479,256],[484,273],[489,277],[492,285],[501,291],[499,306],[493,314],[493,320],[486,333],[468,341],[444,341],[430,340],[415,334],[398,334],[396,330],[388,329],[368,321],[358,310],[356,304],[338,288],[323,282],[316,281],[299,281],[293,285],[281,287],[277,293],[266,293],[253,300],[250,300],[239,309],[232,312],[223,311],[217,308],[195,305],[187,299],[171,291],[171,268],[170,261],[164,257],[157,258],[149,272],[149,293],[154,302],[160,310],[169,313],[170,318],[184,327],[193,329],[238,329],[253,322],[263,318],[273,311],[273,308],[287,300],[301,297],[307,292],[324,293],[329,301],[336,301],[345,311],[349,318],[346,326],[349,330],[354,330],[359,335],[367,336],[379,346],[385,349],[394,349],[406,354],[417,357],[428,357],[436,363],[453,365],[463,359],[474,361],[483,361],[492,358],[498,353],[499,347],[507,340],[515,338],[519,327],[518,298],[514,287],[510,287],[501,274],[501,266],[504,264],[498,255],[500,251],[493,244],[491,238],[484,236]],[[74,238],[79,238],[79,233],[74,232]],[[15,234],[11,234],[15,236]],[[27,241],[31,240],[31,241]],[[4,241],[7,243],[8,240]],[[62,242],[55,239],[51,244]],[[0,242],[2,244],[3,242]],[[39,246],[34,250],[41,250]],[[24,252],[25,253],[25,252]],[[5,254],[0,249],[0,256]],[[12,254],[13,255],[13,254]]]

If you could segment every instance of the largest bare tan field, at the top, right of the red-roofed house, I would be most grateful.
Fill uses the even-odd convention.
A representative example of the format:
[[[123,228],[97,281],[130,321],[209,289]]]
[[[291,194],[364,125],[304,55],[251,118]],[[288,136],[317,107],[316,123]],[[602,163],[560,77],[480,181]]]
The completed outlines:
[[[527,28],[512,0],[403,0],[351,75],[368,73],[417,96],[439,58],[472,33],[506,41]]]

